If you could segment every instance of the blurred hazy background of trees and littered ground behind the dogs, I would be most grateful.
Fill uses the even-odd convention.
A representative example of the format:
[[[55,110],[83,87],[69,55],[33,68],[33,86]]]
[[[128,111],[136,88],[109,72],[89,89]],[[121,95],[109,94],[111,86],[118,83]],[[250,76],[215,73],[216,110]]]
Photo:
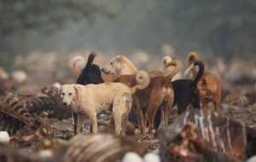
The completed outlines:
[[[74,84],[73,57],[91,50],[100,67],[125,55],[148,71],[196,51],[222,102],[256,101],[255,0],[0,0],[0,95]]]

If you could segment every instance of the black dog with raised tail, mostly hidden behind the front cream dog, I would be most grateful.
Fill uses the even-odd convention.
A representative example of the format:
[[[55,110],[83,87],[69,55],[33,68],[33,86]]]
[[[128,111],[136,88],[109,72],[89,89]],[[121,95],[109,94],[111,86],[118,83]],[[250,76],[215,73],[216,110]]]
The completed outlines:
[[[103,80],[101,77],[101,68],[96,64],[92,64],[96,57],[95,52],[91,52],[84,69],[80,72],[79,78],[76,84],[102,84]],[[78,126],[78,114],[73,111],[73,121],[74,121],[74,134],[76,134]]]

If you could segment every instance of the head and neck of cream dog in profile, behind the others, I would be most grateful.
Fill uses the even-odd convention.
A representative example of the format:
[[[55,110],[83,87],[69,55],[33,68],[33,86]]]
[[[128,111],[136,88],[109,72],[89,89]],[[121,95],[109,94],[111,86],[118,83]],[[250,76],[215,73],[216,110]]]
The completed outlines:
[[[137,67],[124,55],[117,55],[102,68],[106,74],[133,75],[137,73]]]

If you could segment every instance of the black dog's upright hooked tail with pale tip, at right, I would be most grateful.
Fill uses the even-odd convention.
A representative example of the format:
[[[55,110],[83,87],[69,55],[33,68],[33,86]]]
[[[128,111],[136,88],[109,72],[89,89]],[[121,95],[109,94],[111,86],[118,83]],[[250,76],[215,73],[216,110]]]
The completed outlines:
[[[198,81],[201,79],[201,77],[203,76],[204,72],[205,72],[205,65],[202,61],[195,61],[194,64],[190,65],[187,70],[184,72],[184,75],[186,76],[190,70],[192,70],[193,68],[195,68],[195,66],[198,66],[199,70],[195,76],[195,79],[193,80],[193,84],[197,84]]]

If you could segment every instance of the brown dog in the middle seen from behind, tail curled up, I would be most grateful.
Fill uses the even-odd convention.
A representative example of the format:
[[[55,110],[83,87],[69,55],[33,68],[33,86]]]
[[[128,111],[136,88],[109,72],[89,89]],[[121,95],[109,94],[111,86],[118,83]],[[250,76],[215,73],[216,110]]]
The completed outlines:
[[[137,90],[132,95],[132,107],[135,108],[137,120],[142,132],[145,131],[148,121],[148,133],[151,134],[154,128],[154,116],[161,106],[162,118],[160,126],[166,126],[170,119],[170,112],[174,100],[171,80],[181,69],[181,63],[172,61],[168,66],[175,68],[168,76],[156,76],[150,78],[150,84],[144,90]],[[134,86],[136,75],[120,75],[114,78],[114,82],[121,82],[128,86]]]

